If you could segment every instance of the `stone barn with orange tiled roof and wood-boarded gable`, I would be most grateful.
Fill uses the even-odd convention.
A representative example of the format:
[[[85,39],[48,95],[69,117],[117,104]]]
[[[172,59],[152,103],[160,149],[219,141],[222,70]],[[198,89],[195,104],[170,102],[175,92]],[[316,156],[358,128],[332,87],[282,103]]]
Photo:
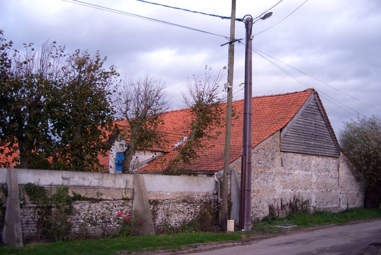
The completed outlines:
[[[222,106],[223,116],[226,105]],[[233,102],[230,153],[231,219],[238,222],[239,185],[242,154],[243,100]],[[340,211],[362,207],[365,197],[364,178],[341,152],[334,130],[318,93],[313,89],[301,92],[252,98],[252,219],[269,214],[269,206],[278,206],[294,196],[309,200],[310,209]],[[160,173],[186,140],[186,123],[190,110],[176,110],[162,116],[159,128],[167,145],[135,154],[131,167],[135,172]],[[126,122],[116,125],[116,130]],[[221,177],[223,169],[225,127],[200,156],[185,166],[187,174]],[[114,137],[117,137],[117,135]],[[125,150],[123,137],[112,140],[109,156],[101,161],[115,172],[117,152]],[[278,213],[279,213],[278,210]],[[282,210],[280,210],[282,211]],[[280,212],[284,213],[284,212]]]

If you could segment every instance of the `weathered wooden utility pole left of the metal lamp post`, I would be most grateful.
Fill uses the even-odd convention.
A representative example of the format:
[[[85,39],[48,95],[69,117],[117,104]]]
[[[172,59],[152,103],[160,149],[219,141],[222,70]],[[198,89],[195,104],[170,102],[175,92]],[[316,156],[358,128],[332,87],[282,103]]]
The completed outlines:
[[[226,132],[225,132],[225,151],[224,151],[224,175],[222,177],[222,203],[220,210],[220,226],[222,231],[226,231],[228,219],[228,180],[230,175],[229,156],[230,156],[230,136],[232,126],[232,98],[233,98],[233,69],[234,69],[234,33],[236,21],[236,0],[232,0],[232,15],[230,19],[230,43],[229,43],[229,62],[228,62],[228,88],[226,101]]]

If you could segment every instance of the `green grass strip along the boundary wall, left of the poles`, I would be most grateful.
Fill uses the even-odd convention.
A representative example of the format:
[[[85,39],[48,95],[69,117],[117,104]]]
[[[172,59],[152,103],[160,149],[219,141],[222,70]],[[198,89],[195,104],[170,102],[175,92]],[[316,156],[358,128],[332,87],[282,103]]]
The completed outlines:
[[[124,237],[98,240],[28,244],[22,248],[0,247],[0,254],[14,255],[116,255],[119,252],[179,250],[196,243],[239,240],[238,233],[185,233],[162,236]]]

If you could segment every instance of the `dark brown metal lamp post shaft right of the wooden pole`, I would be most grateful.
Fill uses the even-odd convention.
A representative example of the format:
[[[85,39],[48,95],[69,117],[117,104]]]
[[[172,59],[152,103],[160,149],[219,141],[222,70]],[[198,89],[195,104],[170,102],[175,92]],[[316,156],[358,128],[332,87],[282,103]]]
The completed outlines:
[[[245,48],[245,97],[244,97],[244,124],[243,124],[243,145],[242,157],[244,162],[242,164],[244,185],[241,185],[241,192],[244,193],[243,210],[241,223],[244,231],[251,230],[251,147],[252,147],[252,26],[253,18],[249,15],[245,19],[246,26],[246,48]]]

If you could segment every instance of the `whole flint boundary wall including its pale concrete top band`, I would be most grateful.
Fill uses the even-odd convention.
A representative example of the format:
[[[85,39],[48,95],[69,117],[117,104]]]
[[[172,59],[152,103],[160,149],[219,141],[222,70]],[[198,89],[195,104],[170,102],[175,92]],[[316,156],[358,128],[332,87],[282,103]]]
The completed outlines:
[[[0,176],[2,171],[0,169]],[[57,186],[80,194],[84,201],[74,201],[74,213],[68,217],[73,237],[104,237],[119,230],[117,212],[131,212],[133,205],[133,176],[131,174],[84,173],[51,170],[14,169],[17,171],[20,196],[22,238],[33,241],[37,232],[39,209],[24,191],[28,182],[44,186],[54,194]],[[143,175],[154,226],[164,224],[178,227],[197,217],[205,201],[216,203],[216,184],[212,177]],[[5,180],[0,179],[0,185]],[[4,185],[5,187],[6,185]],[[6,199],[0,190],[0,197]],[[6,210],[6,203],[2,208]],[[1,215],[0,215],[1,216]],[[2,225],[0,225],[2,228]],[[2,229],[0,229],[2,231]]]

